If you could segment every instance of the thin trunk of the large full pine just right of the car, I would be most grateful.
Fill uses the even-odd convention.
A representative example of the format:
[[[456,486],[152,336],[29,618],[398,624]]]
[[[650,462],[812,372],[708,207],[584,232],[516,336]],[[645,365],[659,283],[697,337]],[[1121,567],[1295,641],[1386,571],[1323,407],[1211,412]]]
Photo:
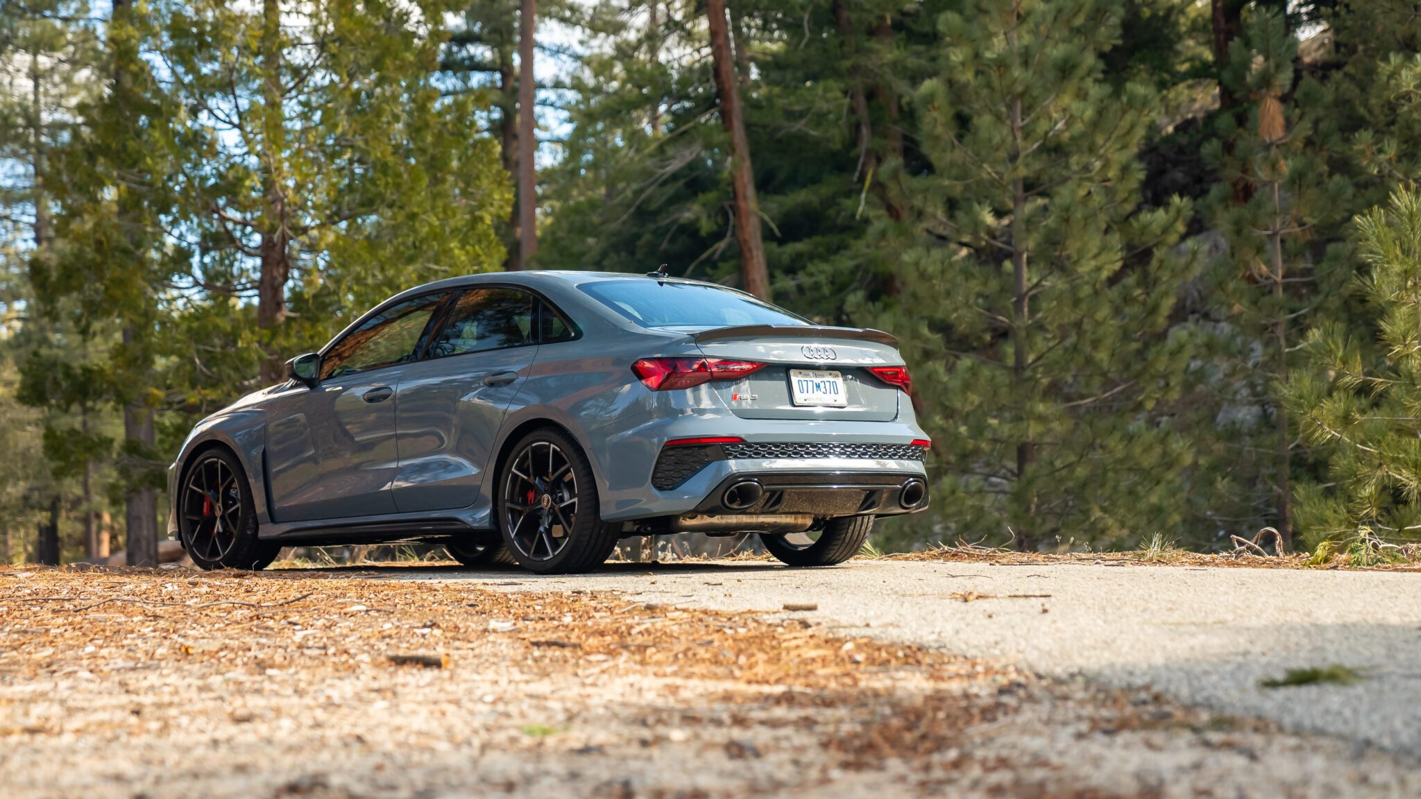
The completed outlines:
[[[1016,50],[1016,30],[1006,34],[1007,47]],[[1025,119],[1022,115],[1022,98],[1010,101],[1009,125],[1012,132],[1010,162],[1013,172],[1022,159],[1022,131]],[[1030,327],[1032,309],[1026,294],[1030,277],[1027,274],[1027,230],[1026,230],[1026,182],[1020,173],[1012,178],[1012,378],[1016,382],[1016,398],[1022,407],[1029,407],[1029,398],[1034,394],[1030,387],[1032,347]],[[1029,485],[1032,462],[1036,461],[1036,442],[1027,431],[1016,445],[1016,481]],[[1016,530],[1016,545],[1022,550],[1036,547],[1036,496],[1034,489],[1029,489],[1026,498],[1026,518],[1022,519],[1020,530]]]

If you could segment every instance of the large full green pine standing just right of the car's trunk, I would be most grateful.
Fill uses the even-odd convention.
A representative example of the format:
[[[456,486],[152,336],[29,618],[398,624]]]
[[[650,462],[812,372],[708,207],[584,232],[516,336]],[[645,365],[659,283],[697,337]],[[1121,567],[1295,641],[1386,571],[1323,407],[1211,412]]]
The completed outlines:
[[[1182,518],[1189,448],[1162,412],[1188,208],[1140,209],[1151,95],[1101,80],[1120,6],[979,0],[941,17],[915,95],[931,173],[905,199],[904,338],[946,537],[1123,542]]]

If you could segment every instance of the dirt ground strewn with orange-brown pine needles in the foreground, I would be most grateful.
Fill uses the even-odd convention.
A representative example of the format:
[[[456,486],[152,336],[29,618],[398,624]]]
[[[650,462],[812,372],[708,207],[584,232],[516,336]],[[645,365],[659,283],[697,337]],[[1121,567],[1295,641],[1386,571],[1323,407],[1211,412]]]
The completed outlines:
[[[783,611],[0,569],[16,799],[1415,796],[1417,765]]]

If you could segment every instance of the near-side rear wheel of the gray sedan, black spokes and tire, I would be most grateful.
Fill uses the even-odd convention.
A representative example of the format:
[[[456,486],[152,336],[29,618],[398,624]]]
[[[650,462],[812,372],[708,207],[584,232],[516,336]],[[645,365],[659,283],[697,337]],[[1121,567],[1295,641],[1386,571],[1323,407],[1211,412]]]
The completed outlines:
[[[617,547],[621,525],[601,520],[593,466],[563,431],[541,428],[519,439],[497,485],[499,532],[529,572],[591,572]]]

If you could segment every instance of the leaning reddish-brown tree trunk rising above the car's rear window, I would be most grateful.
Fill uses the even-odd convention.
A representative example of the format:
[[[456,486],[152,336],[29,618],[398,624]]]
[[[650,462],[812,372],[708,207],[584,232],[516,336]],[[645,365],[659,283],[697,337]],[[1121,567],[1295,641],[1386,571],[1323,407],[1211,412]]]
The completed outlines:
[[[764,240],[760,237],[760,200],[755,195],[755,169],[750,142],[740,114],[740,91],[735,80],[730,34],[726,28],[725,0],[706,1],[706,27],[710,31],[710,60],[720,104],[720,124],[730,134],[730,183],[735,188],[735,239],[740,245],[740,273],[745,290],[770,299],[770,273],[764,264]]]

